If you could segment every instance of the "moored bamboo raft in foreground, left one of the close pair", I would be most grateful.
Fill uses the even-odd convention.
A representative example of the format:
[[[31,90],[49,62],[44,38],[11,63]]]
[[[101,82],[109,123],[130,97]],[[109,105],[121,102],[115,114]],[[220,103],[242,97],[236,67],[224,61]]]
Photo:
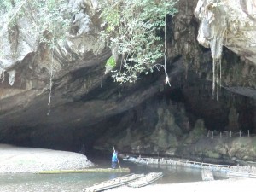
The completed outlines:
[[[131,183],[132,181],[136,180],[137,178],[143,177],[144,174],[129,174],[125,175],[123,177],[117,177],[113,178],[111,180],[102,182],[102,183],[96,183],[92,185],[89,188],[83,189],[83,192],[96,192],[96,191],[102,191],[106,189],[112,189],[115,187],[119,187],[121,185]]]

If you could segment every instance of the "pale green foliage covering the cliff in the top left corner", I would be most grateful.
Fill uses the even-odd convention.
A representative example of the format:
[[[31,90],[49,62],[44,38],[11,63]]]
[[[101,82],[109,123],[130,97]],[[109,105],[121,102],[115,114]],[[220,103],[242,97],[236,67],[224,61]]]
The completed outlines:
[[[67,0],[4,0],[0,2],[0,17],[5,18],[9,28],[17,20],[26,18],[32,27],[29,35],[38,37],[40,43],[50,49],[56,40],[64,39],[73,13],[68,9]]]

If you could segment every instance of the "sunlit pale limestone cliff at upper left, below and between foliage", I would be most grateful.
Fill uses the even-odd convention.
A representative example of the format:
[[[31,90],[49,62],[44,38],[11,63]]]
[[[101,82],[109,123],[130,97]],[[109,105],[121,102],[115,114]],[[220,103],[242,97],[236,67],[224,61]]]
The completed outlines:
[[[7,86],[4,89],[1,86],[1,90],[15,90],[6,97],[32,89],[44,92],[49,89],[51,73],[54,79],[58,79],[68,72],[84,67],[84,63],[79,63],[84,58],[88,61],[88,66],[92,65],[90,59],[102,54],[105,44],[98,42],[96,36],[100,30],[100,22],[96,16],[96,1],[69,1],[65,9],[73,13],[70,31],[64,32],[65,39],[56,40],[54,50],[49,49],[42,40],[47,33],[47,27],[35,26],[40,25],[37,20],[42,13],[34,15],[29,5],[21,5],[14,7],[13,12],[17,14],[16,12],[22,9],[26,15],[13,19],[15,21],[3,15],[4,18],[1,20],[3,27],[0,32],[0,78]],[[96,61],[101,60],[101,56],[97,57]]]

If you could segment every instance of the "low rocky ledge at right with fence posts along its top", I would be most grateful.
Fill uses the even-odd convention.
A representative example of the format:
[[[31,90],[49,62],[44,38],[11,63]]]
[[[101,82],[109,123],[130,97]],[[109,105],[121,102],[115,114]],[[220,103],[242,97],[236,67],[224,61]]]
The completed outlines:
[[[177,155],[184,158],[207,160],[232,160],[233,163],[255,161],[256,137],[201,137],[197,143],[180,146]]]

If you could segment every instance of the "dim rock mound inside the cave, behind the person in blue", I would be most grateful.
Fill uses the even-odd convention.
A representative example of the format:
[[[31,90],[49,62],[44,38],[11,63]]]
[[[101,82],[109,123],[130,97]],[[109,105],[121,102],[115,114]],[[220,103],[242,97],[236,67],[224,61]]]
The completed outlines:
[[[114,130],[109,126],[94,147],[108,150],[110,144],[115,143],[123,153],[174,154],[183,134],[189,132],[188,117],[183,104],[168,101],[158,105],[154,100],[150,99],[143,106],[125,113]],[[152,105],[155,111],[150,111]],[[124,125],[128,125],[126,129],[122,128]]]

